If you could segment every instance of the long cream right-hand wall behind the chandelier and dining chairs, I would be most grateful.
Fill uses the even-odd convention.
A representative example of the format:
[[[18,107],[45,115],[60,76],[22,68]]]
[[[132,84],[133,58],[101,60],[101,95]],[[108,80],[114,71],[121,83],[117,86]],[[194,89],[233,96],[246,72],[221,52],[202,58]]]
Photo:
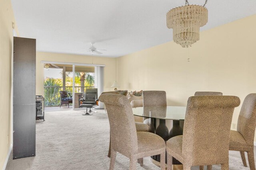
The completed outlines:
[[[120,57],[117,81],[121,89],[165,90],[169,106],[186,106],[196,91],[219,91],[243,101],[256,93],[255,28],[256,15],[201,32],[188,49],[171,41]]]

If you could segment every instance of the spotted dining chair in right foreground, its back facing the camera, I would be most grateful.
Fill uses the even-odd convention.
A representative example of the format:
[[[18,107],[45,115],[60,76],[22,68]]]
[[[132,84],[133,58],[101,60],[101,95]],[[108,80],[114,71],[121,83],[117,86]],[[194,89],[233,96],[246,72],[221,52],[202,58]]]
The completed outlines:
[[[222,170],[228,170],[230,125],[234,107],[239,104],[236,96],[188,98],[183,135],[166,142],[168,170],[172,156],[183,164],[184,170],[212,164],[221,164]]]

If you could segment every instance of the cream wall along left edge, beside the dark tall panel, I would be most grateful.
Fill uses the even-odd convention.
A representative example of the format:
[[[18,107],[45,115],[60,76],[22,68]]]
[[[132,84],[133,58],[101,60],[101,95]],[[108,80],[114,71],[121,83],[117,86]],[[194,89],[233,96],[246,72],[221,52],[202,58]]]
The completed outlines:
[[[12,141],[12,22],[15,23],[11,0],[0,0],[0,169]]]

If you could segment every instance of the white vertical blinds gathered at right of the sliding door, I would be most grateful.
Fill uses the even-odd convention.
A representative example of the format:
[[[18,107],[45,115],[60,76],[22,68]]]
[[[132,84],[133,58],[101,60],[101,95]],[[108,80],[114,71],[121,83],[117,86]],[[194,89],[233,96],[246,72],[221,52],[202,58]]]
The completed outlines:
[[[104,92],[104,67],[95,66],[95,88],[98,88],[98,97]],[[99,106],[95,109],[104,109],[104,103],[99,102]]]

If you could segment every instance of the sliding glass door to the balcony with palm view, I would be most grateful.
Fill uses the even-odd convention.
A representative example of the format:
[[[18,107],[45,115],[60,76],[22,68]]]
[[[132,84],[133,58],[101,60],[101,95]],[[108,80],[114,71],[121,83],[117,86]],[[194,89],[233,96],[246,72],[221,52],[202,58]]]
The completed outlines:
[[[104,91],[104,66],[44,62],[44,98],[46,110],[78,109],[88,88]],[[64,96],[61,94],[64,91]],[[49,108],[47,108],[49,107]],[[99,104],[98,109],[102,109]]]

